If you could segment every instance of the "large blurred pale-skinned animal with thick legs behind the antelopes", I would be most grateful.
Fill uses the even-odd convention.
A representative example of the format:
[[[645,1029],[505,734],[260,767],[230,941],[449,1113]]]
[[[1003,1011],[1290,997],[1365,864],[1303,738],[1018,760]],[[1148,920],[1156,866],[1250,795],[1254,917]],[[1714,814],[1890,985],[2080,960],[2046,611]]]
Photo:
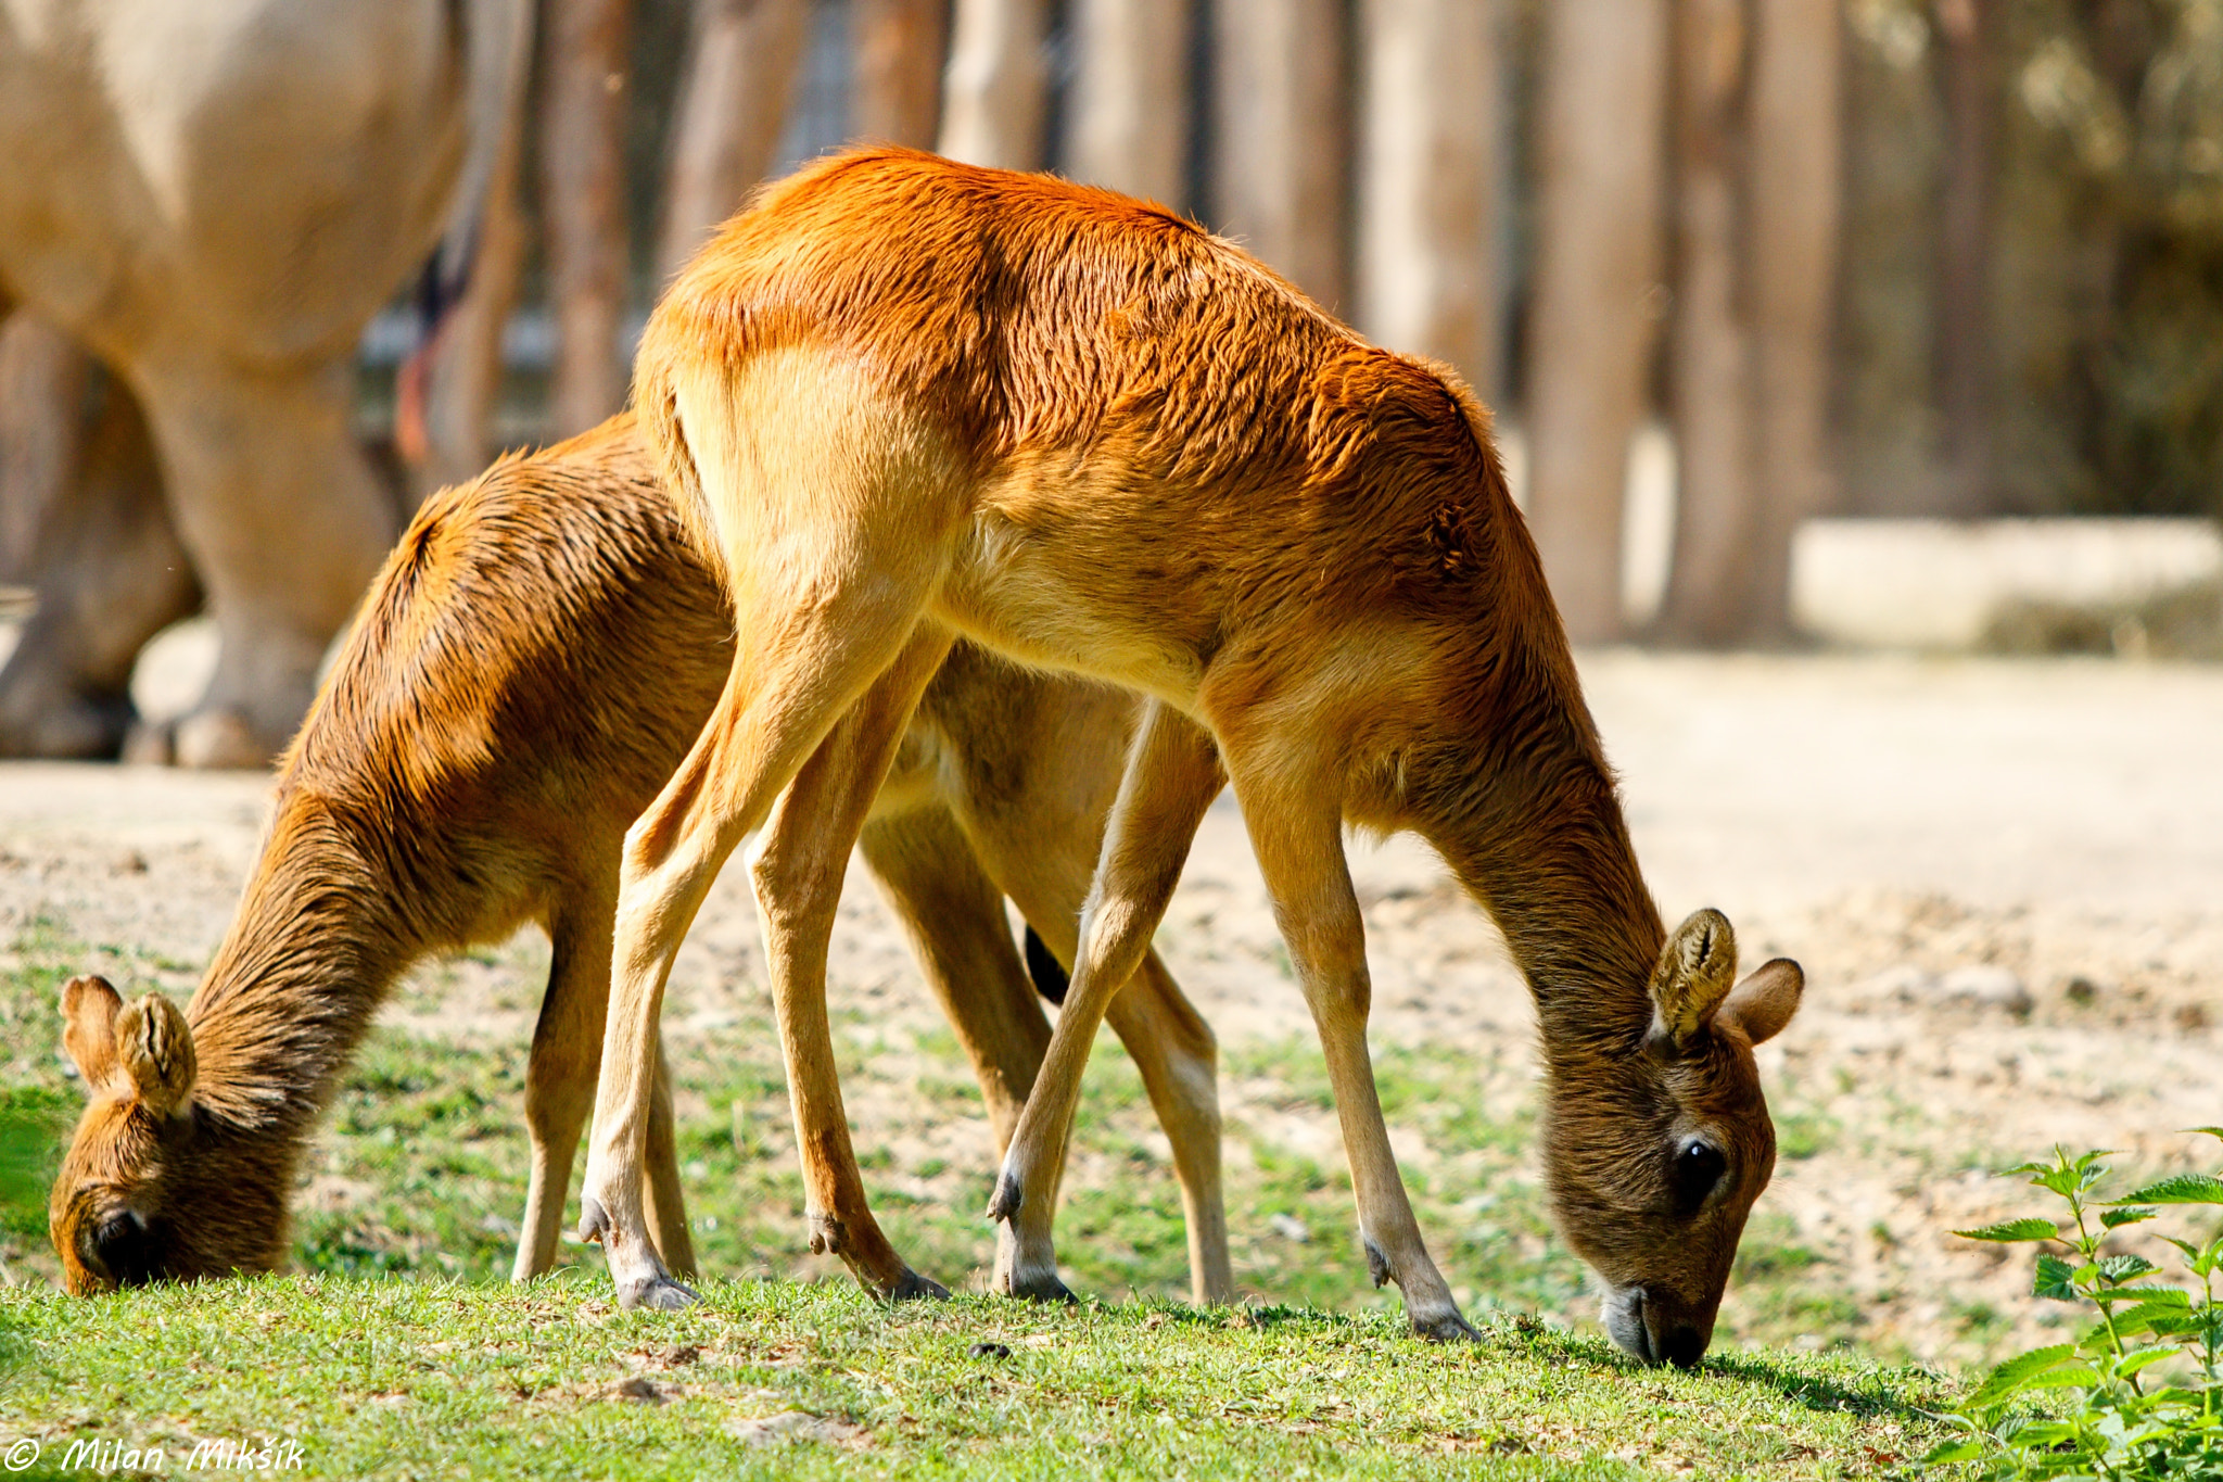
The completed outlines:
[[[131,538],[80,538],[38,573],[40,615],[0,678],[0,751],[113,755],[118,675],[202,591],[222,651],[178,760],[260,767],[293,733],[396,529],[353,442],[356,344],[442,229],[438,271],[460,276],[529,16],[531,0],[0,4],[0,320],[36,309],[129,387],[176,527],[147,540],[144,511],[76,518]]]

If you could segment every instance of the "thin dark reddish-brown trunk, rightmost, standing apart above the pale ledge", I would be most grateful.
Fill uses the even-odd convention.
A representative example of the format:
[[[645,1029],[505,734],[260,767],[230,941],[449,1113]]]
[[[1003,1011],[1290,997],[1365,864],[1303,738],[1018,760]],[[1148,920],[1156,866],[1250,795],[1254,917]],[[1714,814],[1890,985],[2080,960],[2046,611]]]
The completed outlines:
[[[1936,0],[1945,91],[1945,187],[1938,229],[1938,411],[1952,509],[1992,500],[1990,313],[1992,44],[1998,0]]]

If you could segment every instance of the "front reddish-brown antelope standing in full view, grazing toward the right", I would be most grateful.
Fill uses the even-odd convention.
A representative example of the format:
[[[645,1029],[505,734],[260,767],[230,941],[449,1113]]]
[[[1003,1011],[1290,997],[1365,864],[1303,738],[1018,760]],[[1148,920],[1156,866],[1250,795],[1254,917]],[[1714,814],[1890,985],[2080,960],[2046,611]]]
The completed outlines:
[[[702,893],[762,824],[774,951],[811,973],[776,991],[814,1000],[831,878],[963,635],[1147,695],[989,1204],[998,1291],[1063,1293],[1051,1211],[1089,1040],[1232,780],[1327,1053],[1374,1280],[1416,1331],[1472,1335],[1374,1093],[1347,822],[1420,833],[1503,929],[1541,1004],[1567,1242],[1625,1349],[1696,1362],[1774,1164],[1752,1044],[1790,1020],[1801,973],[1736,984],[1714,911],[1663,931],[1489,418],[1452,371],[1365,344],[1158,207],[883,149],[736,216],[658,304],[634,384],[754,642],[627,833],[582,1193],[622,1300],[685,1300],[638,1169],[662,984]],[[798,1113],[838,1095],[825,1042],[805,1051]],[[838,1158],[836,1133],[798,1129]]]

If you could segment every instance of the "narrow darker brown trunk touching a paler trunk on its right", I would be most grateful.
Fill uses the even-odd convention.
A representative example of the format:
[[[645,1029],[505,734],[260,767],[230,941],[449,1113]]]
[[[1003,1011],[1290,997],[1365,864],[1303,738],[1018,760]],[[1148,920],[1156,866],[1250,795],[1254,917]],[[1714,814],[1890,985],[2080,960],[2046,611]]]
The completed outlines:
[[[1721,644],[1747,620],[1756,529],[1752,298],[1745,282],[1743,0],[1674,11],[1674,567],[1658,633]]]

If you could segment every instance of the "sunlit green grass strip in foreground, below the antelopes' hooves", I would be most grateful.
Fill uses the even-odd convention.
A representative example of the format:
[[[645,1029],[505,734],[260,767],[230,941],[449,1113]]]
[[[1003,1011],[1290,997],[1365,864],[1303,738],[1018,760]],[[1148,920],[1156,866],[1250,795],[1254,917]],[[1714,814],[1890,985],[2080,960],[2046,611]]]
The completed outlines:
[[[794,1282],[642,1315],[582,1278],[305,1275],[7,1293],[0,1320],[0,1449],[29,1435],[53,1464],[107,1438],[173,1471],[196,1440],[251,1438],[300,1444],[311,1475],[391,1478],[1834,1478],[1923,1451],[1941,1404],[1918,1371],[1658,1373],[1512,1318],[1443,1349],[1380,1313],[887,1309]],[[803,1435],[747,1440],[791,1411]]]

